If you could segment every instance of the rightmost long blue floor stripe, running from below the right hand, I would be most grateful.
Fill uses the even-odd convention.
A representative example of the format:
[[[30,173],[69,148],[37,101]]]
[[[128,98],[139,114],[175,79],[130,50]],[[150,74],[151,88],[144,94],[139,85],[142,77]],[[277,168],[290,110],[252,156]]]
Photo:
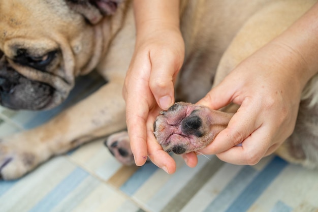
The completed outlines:
[[[275,157],[238,195],[226,212],[246,211],[287,165],[286,161]]]

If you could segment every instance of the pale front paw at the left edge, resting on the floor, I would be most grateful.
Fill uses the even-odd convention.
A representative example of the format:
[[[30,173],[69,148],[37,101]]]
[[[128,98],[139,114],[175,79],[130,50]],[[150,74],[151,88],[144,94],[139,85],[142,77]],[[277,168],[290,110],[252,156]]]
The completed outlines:
[[[38,157],[33,150],[26,150],[17,142],[0,141],[0,178],[19,178],[38,164]]]

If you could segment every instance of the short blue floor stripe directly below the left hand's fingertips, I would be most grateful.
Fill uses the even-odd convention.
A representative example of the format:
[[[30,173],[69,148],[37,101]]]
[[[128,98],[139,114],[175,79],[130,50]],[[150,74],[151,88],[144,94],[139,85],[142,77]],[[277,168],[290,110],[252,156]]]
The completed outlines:
[[[140,167],[119,189],[132,196],[145,181],[158,169],[153,163],[147,163]]]

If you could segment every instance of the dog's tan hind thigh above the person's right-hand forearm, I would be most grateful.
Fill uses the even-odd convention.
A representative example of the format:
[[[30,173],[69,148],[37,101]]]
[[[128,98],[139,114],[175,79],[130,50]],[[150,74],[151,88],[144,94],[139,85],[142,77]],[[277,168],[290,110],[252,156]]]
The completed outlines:
[[[219,84],[242,60],[280,35],[315,1],[275,1],[251,16],[237,33],[218,65],[213,86]]]

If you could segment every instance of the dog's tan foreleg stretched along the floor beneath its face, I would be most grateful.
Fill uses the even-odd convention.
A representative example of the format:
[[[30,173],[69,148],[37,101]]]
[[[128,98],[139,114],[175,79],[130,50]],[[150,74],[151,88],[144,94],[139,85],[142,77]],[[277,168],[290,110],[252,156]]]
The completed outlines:
[[[125,129],[121,82],[110,82],[80,103],[30,131],[0,142],[0,174],[14,179],[48,158],[93,138]]]

